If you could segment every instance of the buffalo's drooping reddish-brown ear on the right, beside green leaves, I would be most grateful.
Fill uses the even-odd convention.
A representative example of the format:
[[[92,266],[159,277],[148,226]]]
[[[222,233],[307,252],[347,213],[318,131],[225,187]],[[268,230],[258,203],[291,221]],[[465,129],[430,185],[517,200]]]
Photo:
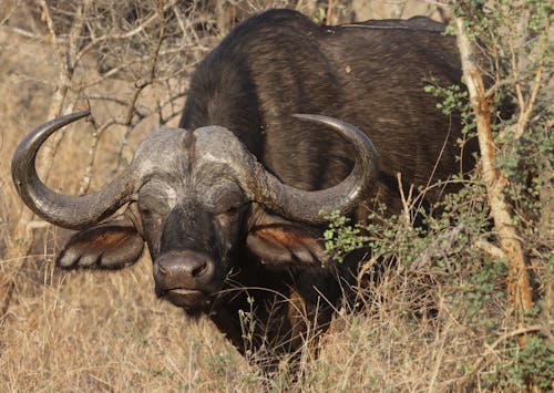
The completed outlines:
[[[246,238],[246,245],[268,267],[325,267],[330,260],[319,234],[293,223],[253,228]]]

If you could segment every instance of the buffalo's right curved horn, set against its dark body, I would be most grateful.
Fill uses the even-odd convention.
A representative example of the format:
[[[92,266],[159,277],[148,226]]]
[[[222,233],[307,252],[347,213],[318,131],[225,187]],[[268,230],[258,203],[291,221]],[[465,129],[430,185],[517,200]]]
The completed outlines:
[[[260,203],[280,215],[311,224],[326,221],[334,210],[351,211],[369,194],[377,178],[377,151],[371,139],[351,124],[339,120],[311,114],[295,114],[297,118],[321,123],[338,132],[352,147],[355,165],[350,174],[338,185],[305,192],[287,186],[275,176],[258,167],[258,198]],[[258,177],[259,178],[259,177]]]

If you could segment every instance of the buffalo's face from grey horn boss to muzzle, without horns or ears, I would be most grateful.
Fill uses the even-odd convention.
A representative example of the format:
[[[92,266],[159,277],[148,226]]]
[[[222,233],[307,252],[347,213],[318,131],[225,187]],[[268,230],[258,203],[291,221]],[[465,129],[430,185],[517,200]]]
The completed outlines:
[[[228,252],[244,232],[245,207],[255,198],[243,190],[252,188],[244,184],[248,174],[229,165],[249,157],[229,134],[216,126],[194,134],[161,128],[135,155],[144,179],[137,207],[154,260],[156,293],[178,307],[199,308],[220,289],[229,271]]]

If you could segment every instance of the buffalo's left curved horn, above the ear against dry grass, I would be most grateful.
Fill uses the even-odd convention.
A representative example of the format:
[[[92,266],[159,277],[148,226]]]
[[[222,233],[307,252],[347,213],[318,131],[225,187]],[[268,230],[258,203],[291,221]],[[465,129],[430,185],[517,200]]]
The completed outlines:
[[[71,229],[82,229],[110,216],[134,193],[131,167],[103,190],[81,197],[57,194],[37,175],[34,161],[40,146],[59,128],[89,114],[76,112],[34,128],[21,141],[11,162],[13,183],[25,205],[44,220]]]

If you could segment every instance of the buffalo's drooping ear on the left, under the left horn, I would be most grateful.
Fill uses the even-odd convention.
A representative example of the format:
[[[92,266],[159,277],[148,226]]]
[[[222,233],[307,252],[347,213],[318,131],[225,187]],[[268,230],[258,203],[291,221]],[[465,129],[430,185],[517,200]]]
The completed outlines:
[[[73,235],[57,258],[65,269],[121,269],[136,262],[144,239],[136,228],[132,209]]]

